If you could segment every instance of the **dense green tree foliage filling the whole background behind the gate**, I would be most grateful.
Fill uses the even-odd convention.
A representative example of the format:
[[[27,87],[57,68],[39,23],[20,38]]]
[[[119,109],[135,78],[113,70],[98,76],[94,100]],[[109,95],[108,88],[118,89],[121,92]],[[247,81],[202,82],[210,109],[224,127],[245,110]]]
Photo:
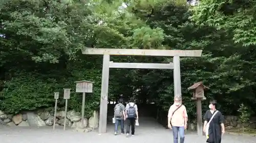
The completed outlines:
[[[86,47],[202,49],[201,58],[181,58],[189,115],[196,116],[196,104],[187,88],[198,81],[210,88],[207,99],[217,99],[225,114],[234,115],[240,102],[248,107],[256,103],[254,21],[249,18],[253,1],[247,3],[204,0],[190,7],[165,0],[2,1],[0,109],[17,113],[52,107],[53,92],[61,96],[63,88],[72,88],[69,108],[79,111],[81,95],[75,93],[74,82],[86,79],[95,82],[93,94],[86,96],[89,117],[99,108],[102,56],[82,55]],[[172,58],[111,56],[111,61],[169,63]],[[172,70],[111,69],[108,95],[109,100],[136,96],[167,110],[173,86]]]

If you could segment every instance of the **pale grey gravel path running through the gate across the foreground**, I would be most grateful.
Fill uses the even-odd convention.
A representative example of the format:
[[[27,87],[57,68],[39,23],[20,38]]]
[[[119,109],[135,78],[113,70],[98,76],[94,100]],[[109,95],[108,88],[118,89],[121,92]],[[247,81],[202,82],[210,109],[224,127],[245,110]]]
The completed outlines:
[[[143,122],[142,122],[143,121]],[[141,119],[139,127],[136,127],[135,136],[113,135],[113,125],[108,126],[108,133],[99,135],[97,131],[89,133],[74,132],[72,129],[63,131],[63,127],[57,127],[55,131],[49,127],[2,127],[0,126],[0,142],[3,143],[166,143],[173,142],[172,131],[163,128],[153,119]],[[204,136],[197,136],[195,132],[187,132],[185,143],[205,142]],[[225,134],[222,143],[255,143],[256,137]]]

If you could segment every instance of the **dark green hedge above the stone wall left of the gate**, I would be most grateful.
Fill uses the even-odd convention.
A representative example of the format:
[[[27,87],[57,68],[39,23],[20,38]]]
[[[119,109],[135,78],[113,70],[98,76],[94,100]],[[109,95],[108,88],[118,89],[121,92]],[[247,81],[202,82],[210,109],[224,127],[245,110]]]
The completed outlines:
[[[16,114],[23,110],[53,108],[55,104],[54,92],[60,93],[58,108],[63,108],[65,106],[63,88],[71,88],[68,108],[81,111],[82,93],[75,93],[74,82],[77,78],[70,75],[69,78],[63,76],[62,81],[57,81],[56,79],[58,78],[53,75],[38,75],[37,73],[20,73],[15,75],[12,80],[5,82],[5,88],[2,91],[2,95],[0,95],[2,99],[0,110]],[[92,79],[92,81],[95,80]],[[98,81],[93,85],[94,93],[86,94],[85,116],[87,117],[90,117],[93,111],[99,108],[101,80]]]

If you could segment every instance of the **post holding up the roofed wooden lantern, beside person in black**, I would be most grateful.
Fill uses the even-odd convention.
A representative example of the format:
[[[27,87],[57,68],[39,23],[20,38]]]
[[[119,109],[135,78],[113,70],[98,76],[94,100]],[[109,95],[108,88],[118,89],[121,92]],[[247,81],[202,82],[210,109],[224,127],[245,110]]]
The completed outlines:
[[[197,134],[203,135],[202,100],[197,98]]]

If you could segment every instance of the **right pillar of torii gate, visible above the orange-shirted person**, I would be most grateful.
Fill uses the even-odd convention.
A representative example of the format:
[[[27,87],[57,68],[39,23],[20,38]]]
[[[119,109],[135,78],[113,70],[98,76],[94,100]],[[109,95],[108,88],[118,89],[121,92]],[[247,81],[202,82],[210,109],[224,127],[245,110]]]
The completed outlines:
[[[181,95],[180,57],[174,56],[174,95]]]

